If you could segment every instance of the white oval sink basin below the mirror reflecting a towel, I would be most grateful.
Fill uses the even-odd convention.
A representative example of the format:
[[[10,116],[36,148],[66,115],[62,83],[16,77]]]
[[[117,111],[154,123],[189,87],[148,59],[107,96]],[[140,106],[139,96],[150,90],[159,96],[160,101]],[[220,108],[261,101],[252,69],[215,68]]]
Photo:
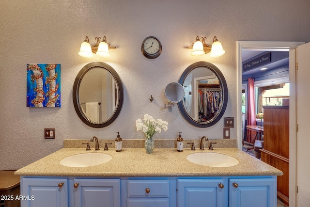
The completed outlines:
[[[112,159],[110,155],[102,153],[83,153],[66,157],[60,161],[60,164],[67,167],[90,167],[109,162]]]

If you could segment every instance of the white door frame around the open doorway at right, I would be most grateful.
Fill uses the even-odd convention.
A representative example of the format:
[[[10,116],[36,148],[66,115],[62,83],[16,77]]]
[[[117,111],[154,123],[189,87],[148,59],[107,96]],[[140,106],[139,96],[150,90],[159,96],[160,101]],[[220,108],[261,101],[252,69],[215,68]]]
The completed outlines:
[[[237,41],[237,147],[242,150],[242,49],[258,51],[290,51],[305,42],[276,42],[276,41]],[[296,206],[296,62],[295,52],[289,54],[290,73],[290,169],[289,169],[289,206]]]

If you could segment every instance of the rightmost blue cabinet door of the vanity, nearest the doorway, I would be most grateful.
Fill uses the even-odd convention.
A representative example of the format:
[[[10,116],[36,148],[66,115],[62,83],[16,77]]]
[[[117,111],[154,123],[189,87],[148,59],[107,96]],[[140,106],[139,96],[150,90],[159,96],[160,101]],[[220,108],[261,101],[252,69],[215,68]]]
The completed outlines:
[[[229,206],[277,207],[277,179],[229,179]]]

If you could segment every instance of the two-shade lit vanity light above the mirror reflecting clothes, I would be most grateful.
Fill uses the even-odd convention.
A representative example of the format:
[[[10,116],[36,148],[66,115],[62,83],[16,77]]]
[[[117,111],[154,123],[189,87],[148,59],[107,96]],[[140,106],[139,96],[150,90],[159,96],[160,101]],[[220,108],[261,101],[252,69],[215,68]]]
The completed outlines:
[[[192,47],[186,47],[192,49],[193,56],[201,56],[210,52],[211,57],[219,57],[225,53],[222,44],[217,40],[217,36],[214,36],[212,46],[205,43],[206,37],[196,37],[196,42],[192,44]]]

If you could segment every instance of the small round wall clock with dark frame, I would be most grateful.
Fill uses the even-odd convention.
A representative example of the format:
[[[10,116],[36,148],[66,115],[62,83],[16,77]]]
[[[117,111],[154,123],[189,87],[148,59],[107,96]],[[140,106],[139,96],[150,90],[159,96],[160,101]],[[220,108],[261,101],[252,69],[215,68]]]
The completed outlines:
[[[142,54],[149,59],[157,58],[162,50],[160,41],[153,36],[144,39],[141,45]]]

